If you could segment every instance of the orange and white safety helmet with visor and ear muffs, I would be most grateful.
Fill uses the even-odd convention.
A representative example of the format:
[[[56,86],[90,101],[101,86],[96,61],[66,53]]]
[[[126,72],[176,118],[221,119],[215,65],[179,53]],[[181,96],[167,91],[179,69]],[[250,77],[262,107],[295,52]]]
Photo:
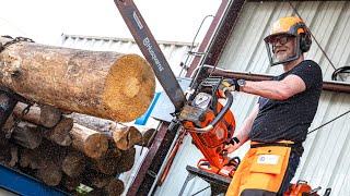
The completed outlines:
[[[295,37],[295,47],[294,54],[292,57],[287,58],[285,60],[279,61],[275,57],[275,47],[273,47],[273,38],[277,36],[291,36]],[[310,50],[312,39],[311,33],[305,25],[305,23],[295,16],[281,17],[277,22],[273,23],[270,34],[264,38],[266,48],[268,51],[269,60],[271,65],[281,64],[285,62],[290,62],[299,59],[299,57],[303,52],[307,52]]]

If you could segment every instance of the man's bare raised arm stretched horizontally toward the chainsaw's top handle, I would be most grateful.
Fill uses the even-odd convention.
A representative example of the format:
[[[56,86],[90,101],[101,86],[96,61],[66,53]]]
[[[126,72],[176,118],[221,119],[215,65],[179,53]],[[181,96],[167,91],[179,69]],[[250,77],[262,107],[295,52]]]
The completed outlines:
[[[306,89],[304,81],[298,75],[288,75],[282,81],[247,81],[241,91],[254,94],[268,99],[285,100]]]

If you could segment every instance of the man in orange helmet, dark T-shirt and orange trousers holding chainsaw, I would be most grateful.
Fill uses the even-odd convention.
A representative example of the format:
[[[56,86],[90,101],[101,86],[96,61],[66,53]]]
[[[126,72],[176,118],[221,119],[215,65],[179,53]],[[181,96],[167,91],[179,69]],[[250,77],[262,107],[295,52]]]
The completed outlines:
[[[282,195],[294,176],[322,91],[322,70],[304,60],[312,40],[299,17],[278,20],[265,39],[270,64],[282,64],[284,73],[272,81],[228,79],[228,87],[258,95],[258,103],[236,132],[234,151],[248,139],[246,154],[228,195]]]

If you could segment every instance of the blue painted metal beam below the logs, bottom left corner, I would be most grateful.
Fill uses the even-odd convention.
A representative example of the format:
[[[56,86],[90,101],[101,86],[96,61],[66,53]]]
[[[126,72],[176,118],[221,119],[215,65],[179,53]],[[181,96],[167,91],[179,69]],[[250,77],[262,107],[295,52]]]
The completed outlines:
[[[63,196],[69,195],[55,187],[49,187],[36,179],[0,164],[0,187],[25,196]]]

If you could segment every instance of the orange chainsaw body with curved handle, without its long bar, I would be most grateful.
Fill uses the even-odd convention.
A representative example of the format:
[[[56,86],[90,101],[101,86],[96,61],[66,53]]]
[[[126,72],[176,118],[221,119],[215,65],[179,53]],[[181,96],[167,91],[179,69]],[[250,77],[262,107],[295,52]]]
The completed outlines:
[[[229,158],[224,147],[232,142],[235,130],[234,115],[230,110],[233,96],[229,90],[220,88],[222,82],[221,77],[203,79],[180,111],[178,120],[205,156],[197,167],[232,176],[240,159]],[[223,98],[226,100],[224,106],[219,101]]]

